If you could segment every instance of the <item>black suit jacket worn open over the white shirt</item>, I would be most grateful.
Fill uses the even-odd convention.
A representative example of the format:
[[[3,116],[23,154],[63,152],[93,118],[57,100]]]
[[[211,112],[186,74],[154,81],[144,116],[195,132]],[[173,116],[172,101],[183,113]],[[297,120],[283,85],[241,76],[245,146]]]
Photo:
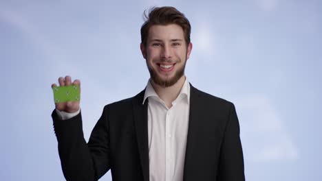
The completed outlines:
[[[184,180],[245,180],[235,106],[190,86]],[[149,181],[148,99],[143,105],[143,97],[144,90],[106,105],[88,143],[81,113],[61,120],[52,112],[66,180],[98,180],[111,169],[116,181]]]

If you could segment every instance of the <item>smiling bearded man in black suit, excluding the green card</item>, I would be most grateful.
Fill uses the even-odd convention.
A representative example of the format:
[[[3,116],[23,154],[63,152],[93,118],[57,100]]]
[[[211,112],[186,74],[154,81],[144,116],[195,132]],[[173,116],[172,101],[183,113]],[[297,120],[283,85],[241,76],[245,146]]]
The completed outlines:
[[[140,49],[151,78],[129,99],[108,104],[86,143],[79,101],[52,112],[67,180],[244,180],[235,106],[203,93],[184,75],[191,25],[172,7],[153,8]],[[60,86],[78,84],[59,77]],[[52,84],[52,87],[56,84]]]

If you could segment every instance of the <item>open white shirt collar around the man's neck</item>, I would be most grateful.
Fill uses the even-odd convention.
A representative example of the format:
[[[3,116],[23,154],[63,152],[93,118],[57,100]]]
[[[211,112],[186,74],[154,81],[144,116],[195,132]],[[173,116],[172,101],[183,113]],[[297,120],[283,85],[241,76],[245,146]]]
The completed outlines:
[[[185,76],[186,77],[186,76]],[[180,93],[178,95],[178,97],[184,97],[184,99],[186,99],[186,103],[189,104],[190,101],[190,84],[188,79],[186,78],[186,80],[184,81],[184,84],[180,90]],[[144,93],[144,98],[143,98],[143,102],[142,104],[144,104],[145,99],[147,99],[148,97],[158,97],[158,99],[160,99],[160,97],[158,96],[157,93],[155,93],[155,90],[153,88],[153,86],[151,85],[151,78],[149,78],[148,82],[147,82],[147,88],[145,88],[145,93]],[[178,101],[178,97],[175,99],[175,101]],[[175,102],[173,101],[173,102]]]

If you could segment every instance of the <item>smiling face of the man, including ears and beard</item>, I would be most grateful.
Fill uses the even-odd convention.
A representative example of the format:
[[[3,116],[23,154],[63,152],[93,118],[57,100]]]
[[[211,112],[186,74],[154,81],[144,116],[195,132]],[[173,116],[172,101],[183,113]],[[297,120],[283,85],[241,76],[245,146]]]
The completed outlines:
[[[182,75],[192,44],[186,46],[182,27],[175,24],[153,25],[147,45],[140,45],[151,79],[162,87],[173,86]]]

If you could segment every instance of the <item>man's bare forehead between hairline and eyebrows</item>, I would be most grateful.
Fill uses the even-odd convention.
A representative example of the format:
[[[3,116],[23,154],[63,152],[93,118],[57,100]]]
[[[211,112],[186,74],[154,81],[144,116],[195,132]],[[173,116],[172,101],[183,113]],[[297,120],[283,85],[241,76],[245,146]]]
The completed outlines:
[[[182,39],[184,40],[184,31],[182,27],[176,24],[169,25],[152,25],[149,29],[149,36],[147,40],[171,40]]]

